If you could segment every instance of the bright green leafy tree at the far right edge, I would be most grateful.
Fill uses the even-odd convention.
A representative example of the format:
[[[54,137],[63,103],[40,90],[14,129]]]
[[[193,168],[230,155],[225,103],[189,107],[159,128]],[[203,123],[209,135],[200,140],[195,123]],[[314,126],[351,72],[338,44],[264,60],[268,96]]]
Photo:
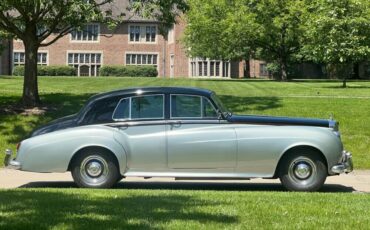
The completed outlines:
[[[353,64],[370,56],[370,1],[308,1],[303,56],[325,63],[343,78],[343,87]]]

